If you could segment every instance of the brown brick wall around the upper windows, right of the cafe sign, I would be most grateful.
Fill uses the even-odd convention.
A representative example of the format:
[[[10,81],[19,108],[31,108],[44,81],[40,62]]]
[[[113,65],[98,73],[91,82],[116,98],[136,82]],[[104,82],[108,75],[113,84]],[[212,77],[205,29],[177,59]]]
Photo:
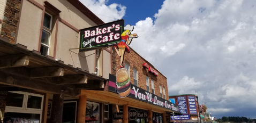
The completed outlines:
[[[112,71],[113,75],[116,74],[117,70],[120,69],[120,57],[117,55],[116,50],[114,47],[112,47],[113,55],[112,55]],[[168,100],[168,85],[167,85],[167,78],[165,78],[159,71],[157,71],[152,64],[150,64],[148,61],[146,61],[144,58],[142,58],[138,53],[136,53],[134,50],[131,49],[130,53],[125,53],[124,56],[124,63],[130,64],[130,75],[131,75],[131,83],[134,84],[133,79],[133,68],[138,70],[138,85],[140,88],[147,90],[146,86],[146,76],[149,77],[149,89],[150,93],[152,93],[152,85],[151,80],[154,80],[155,85],[155,95],[160,96],[160,85],[162,88],[165,88],[165,98]],[[149,72],[148,69],[144,68],[142,64],[148,63],[150,67],[155,69],[157,72],[159,72],[158,77],[156,77],[152,72]],[[162,89],[162,95],[163,95],[163,89]],[[164,99],[164,97],[163,97]]]

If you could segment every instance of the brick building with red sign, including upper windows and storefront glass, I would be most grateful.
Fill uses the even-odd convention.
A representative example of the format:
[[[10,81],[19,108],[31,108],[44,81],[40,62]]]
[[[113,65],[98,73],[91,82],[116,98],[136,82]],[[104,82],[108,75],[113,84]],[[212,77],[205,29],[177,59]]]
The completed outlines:
[[[120,57],[115,52],[115,48],[112,48],[112,74],[116,75],[116,72],[120,69]],[[168,85],[167,78],[152,64],[150,64],[146,59],[142,58],[137,52],[130,48],[130,53],[125,53],[124,56],[124,69],[126,69],[130,74],[131,83],[134,86],[138,86],[145,91],[152,93],[162,99],[168,99]],[[113,112],[123,111],[123,106],[113,105]],[[133,108],[132,108],[133,107]],[[130,109],[136,109],[138,111],[152,110],[153,107],[139,107],[132,106]],[[152,110],[153,120],[157,122],[168,122],[170,121],[170,114],[161,110]],[[164,117],[164,119],[163,119]],[[137,122],[146,122],[148,119],[136,119]],[[113,122],[119,122],[113,120]],[[133,122],[133,121],[130,121]]]

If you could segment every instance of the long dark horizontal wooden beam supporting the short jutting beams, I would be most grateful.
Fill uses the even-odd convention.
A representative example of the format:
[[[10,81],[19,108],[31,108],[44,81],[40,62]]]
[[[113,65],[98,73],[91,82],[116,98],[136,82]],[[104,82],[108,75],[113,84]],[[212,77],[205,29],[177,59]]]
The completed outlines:
[[[6,73],[1,70],[0,84],[32,89],[43,93],[64,94],[71,97],[75,97],[78,94],[77,89],[73,86],[56,85],[38,79]]]

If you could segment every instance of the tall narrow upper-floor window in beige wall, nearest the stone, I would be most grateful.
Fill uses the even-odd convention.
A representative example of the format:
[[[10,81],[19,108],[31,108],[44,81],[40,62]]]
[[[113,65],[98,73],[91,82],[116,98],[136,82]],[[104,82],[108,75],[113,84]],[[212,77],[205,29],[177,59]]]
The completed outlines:
[[[43,18],[43,30],[42,30],[41,48],[40,48],[40,52],[42,55],[49,54],[51,21],[52,21],[52,16],[47,12],[45,12],[44,18]]]

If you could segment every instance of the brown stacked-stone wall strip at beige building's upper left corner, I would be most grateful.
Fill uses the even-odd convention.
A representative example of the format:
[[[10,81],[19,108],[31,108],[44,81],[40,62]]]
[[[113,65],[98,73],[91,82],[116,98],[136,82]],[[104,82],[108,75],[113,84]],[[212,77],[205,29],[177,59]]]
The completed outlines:
[[[7,0],[4,10],[0,36],[9,39],[13,44],[17,33],[20,4],[21,0]]]

